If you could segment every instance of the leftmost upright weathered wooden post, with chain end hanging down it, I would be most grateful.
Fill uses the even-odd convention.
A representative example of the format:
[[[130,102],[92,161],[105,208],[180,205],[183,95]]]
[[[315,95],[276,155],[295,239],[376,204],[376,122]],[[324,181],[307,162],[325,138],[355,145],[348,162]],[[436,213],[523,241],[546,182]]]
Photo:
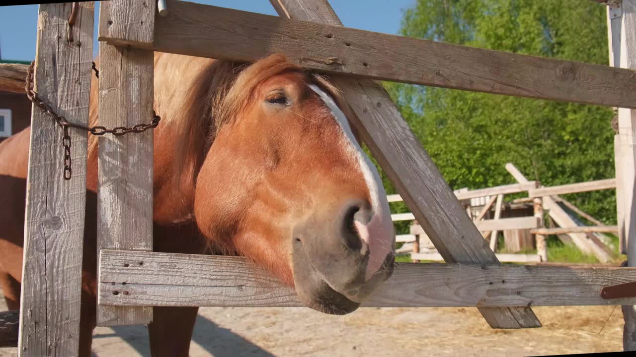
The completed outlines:
[[[93,2],[40,4],[35,90],[71,123],[88,123]],[[78,46],[81,43],[81,47]],[[69,130],[72,177],[64,180],[63,131],[33,105],[20,299],[22,356],[73,356],[79,348],[86,204],[86,131]]]

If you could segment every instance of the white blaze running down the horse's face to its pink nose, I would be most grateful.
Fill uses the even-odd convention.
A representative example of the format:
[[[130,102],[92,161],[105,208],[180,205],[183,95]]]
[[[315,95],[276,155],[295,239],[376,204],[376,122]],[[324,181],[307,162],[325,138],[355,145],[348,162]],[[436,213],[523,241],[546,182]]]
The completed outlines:
[[[387,193],[384,191],[380,174],[376,170],[371,159],[364,154],[362,147],[357,143],[356,137],[349,126],[349,121],[345,114],[340,110],[331,96],[327,95],[321,88],[314,84],[309,84],[309,88],[318,93],[324,104],[329,107],[334,118],[342,128],[343,133],[347,137],[350,152],[356,156],[360,165],[360,171],[364,175],[364,181],[369,189],[371,198],[371,210],[373,216],[367,224],[354,222],[358,235],[369,246],[369,264],[366,267],[365,280],[371,279],[380,267],[387,254],[393,252],[393,243],[395,241],[395,231],[391,220],[391,211],[389,210],[389,202],[387,201]]]

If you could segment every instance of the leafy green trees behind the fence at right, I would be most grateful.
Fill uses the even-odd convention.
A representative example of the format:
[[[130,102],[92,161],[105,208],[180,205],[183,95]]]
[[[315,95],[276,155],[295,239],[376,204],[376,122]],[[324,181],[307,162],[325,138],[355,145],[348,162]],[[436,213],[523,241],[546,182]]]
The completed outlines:
[[[605,6],[593,1],[417,0],[404,13],[401,34],[608,63]],[[504,169],[507,162],[544,185],[614,177],[611,108],[411,84],[385,86],[453,189],[514,183]],[[616,222],[613,190],[566,198],[608,224]]]

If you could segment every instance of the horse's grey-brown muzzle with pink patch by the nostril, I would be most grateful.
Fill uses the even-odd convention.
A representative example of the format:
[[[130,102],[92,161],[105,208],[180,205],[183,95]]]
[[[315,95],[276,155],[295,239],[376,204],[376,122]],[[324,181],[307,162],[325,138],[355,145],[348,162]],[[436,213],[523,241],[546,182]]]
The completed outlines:
[[[336,219],[309,219],[294,229],[294,286],[304,304],[324,313],[347,314],[391,277],[394,230],[392,224],[389,229],[377,222],[369,205],[352,201]],[[373,246],[378,242],[382,249]]]

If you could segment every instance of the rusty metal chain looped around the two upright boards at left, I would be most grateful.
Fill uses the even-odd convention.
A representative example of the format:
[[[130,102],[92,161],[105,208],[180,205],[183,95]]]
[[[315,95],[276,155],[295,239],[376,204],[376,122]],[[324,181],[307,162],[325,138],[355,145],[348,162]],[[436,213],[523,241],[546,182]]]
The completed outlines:
[[[159,121],[161,117],[156,115],[155,111],[153,111],[153,119],[148,124],[137,124],[134,126],[126,127],[126,126],[117,126],[116,128],[107,129],[104,126],[83,126],[76,123],[71,123],[67,121],[63,116],[59,116],[53,111],[53,108],[50,105],[43,102],[39,97],[38,93],[33,88],[33,69],[35,67],[35,61],[31,62],[29,65],[29,70],[27,71],[27,77],[25,79],[25,91],[27,92],[27,97],[29,100],[33,102],[33,104],[37,105],[41,111],[45,112],[46,115],[50,116],[57,125],[62,128],[64,131],[64,135],[62,135],[62,145],[64,146],[64,179],[71,179],[71,135],[69,135],[69,128],[76,128],[79,130],[86,130],[92,135],[104,135],[104,134],[113,134],[116,137],[121,135],[126,135],[128,133],[142,133],[148,129],[156,128],[159,125]],[[93,62],[93,71],[95,71],[95,77],[99,78],[99,71],[95,68],[95,62]]]

